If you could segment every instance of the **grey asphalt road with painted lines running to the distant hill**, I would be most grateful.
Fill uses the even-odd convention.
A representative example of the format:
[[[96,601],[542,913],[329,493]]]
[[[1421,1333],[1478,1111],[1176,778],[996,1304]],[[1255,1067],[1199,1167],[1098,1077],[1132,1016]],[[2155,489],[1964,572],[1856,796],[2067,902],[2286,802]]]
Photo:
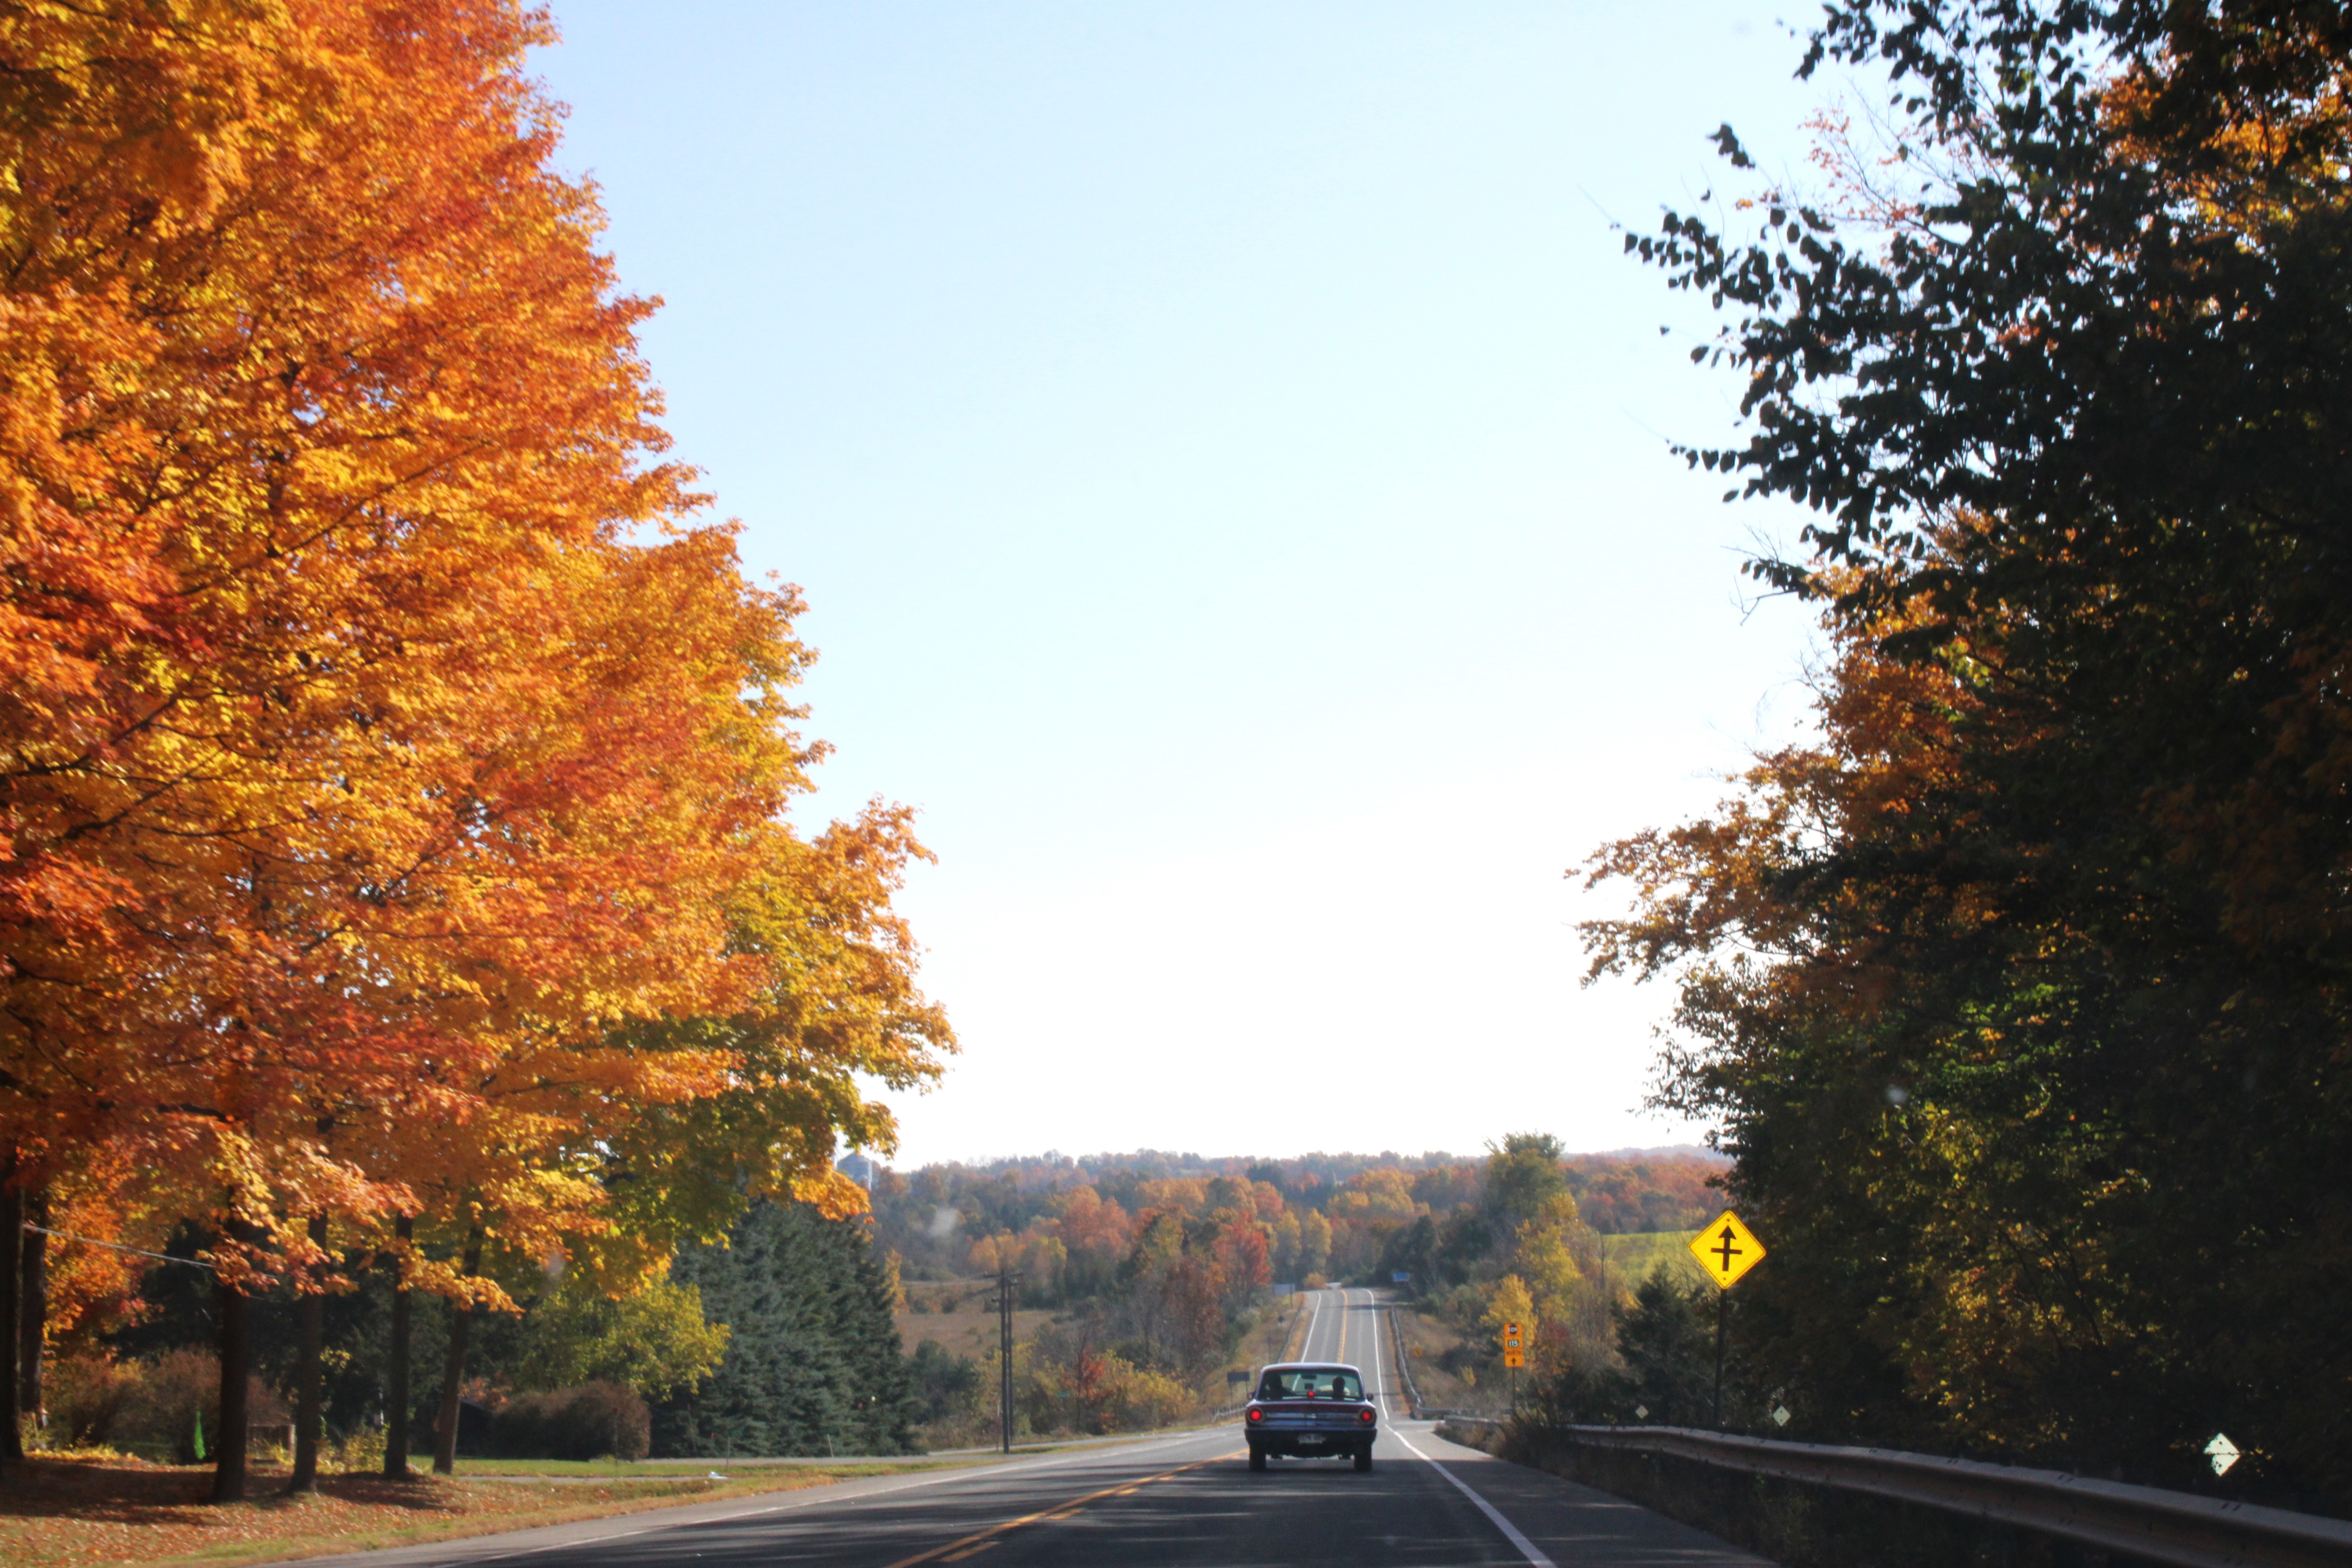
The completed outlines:
[[[529,1559],[532,1568],[1762,1566],[1712,1535],[1439,1441],[1428,1422],[1399,1420],[1390,1408],[1388,1328],[1371,1293],[1319,1291],[1308,1312],[1305,1359],[1359,1366],[1381,1401],[1371,1474],[1355,1474],[1343,1460],[1272,1460],[1251,1474],[1240,1422],[1230,1422],[976,1469],[402,1547],[365,1561],[369,1568],[515,1559]]]

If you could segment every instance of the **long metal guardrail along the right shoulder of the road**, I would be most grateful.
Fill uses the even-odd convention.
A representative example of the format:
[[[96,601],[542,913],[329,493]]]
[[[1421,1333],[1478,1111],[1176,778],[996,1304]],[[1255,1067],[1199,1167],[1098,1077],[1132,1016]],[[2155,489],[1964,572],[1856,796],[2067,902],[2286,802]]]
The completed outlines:
[[[1468,1422],[1465,1422],[1468,1425]],[[1893,1448],[1832,1448],[1689,1427],[1555,1427],[1595,1448],[1663,1453],[1719,1469],[1811,1481],[2063,1535],[2180,1568],[2343,1568],[2352,1521],[2223,1502],[2056,1469],[1938,1460]]]

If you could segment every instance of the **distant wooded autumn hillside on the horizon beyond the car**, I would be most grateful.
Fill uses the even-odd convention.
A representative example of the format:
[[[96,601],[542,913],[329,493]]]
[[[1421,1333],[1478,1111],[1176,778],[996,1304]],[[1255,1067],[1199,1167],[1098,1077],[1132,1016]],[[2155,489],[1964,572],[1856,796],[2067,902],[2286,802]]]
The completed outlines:
[[[1609,1244],[1698,1227],[1722,1168],[1700,1150],[1564,1154],[1529,1133],[1479,1159],[1145,1150],[861,1173],[906,1291],[924,1429],[948,1441],[990,1420],[997,1269],[1018,1279],[1016,1403],[1035,1432],[1207,1410],[1223,1371],[1279,1354],[1270,1286],[1390,1288],[1454,1406],[1503,1387],[1494,1321],[1531,1324],[1545,1363],[1613,1363],[1613,1314],[1661,1253]]]

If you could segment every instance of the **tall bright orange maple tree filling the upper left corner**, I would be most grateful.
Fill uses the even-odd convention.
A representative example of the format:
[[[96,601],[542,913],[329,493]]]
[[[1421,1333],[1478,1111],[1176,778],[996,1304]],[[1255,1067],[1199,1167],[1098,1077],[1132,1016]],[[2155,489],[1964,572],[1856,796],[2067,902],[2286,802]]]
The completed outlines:
[[[783,966],[729,910],[811,759],[797,604],[656,461],[649,306],[522,75],[550,35],[496,0],[0,9],[0,1187],[139,1171],[205,1218],[228,1352],[256,1279],[334,1284],[329,1218],[609,1227],[583,1140],[743,1067],[626,1027]],[[753,1088],[802,1173],[828,1117],[880,1126],[804,1088]]]

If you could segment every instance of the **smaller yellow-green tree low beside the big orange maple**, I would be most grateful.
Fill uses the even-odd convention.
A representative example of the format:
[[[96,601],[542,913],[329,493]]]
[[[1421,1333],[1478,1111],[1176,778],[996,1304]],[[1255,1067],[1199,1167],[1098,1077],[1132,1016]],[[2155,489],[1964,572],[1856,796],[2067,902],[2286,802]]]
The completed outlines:
[[[666,1011],[590,1048],[517,1063],[489,1086],[499,1126],[529,1128],[492,1161],[480,1145],[423,1161],[412,1187],[463,1213],[463,1246],[522,1260],[562,1255],[609,1291],[659,1272],[680,1244],[717,1244],[760,1201],[807,1201],[826,1218],[866,1211],[833,1168],[840,1140],[889,1152],[889,1107],[858,1079],[913,1088],[938,1074],[955,1037],[915,990],[915,940],[889,896],[924,858],[906,809],[873,804],[814,842],[781,823],[727,893],[734,954],[762,985],[710,1013]],[[713,994],[710,1001],[727,1001]],[[600,1077],[583,1070],[602,1065]],[[515,1133],[510,1133],[515,1138]],[[555,1201],[562,1199],[562,1201]],[[414,1248],[402,1248],[416,1258]],[[433,1276],[430,1265],[419,1269]],[[445,1293],[510,1307],[480,1267]],[[454,1467],[463,1338],[442,1368],[435,1467]]]

